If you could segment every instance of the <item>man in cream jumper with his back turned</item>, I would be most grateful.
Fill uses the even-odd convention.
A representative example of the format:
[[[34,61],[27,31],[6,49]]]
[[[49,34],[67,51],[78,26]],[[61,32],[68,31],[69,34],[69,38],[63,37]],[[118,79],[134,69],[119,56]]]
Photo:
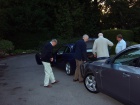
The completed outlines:
[[[99,33],[98,37],[93,44],[94,57],[106,59],[109,57],[108,46],[113,46],[113,43],[104,38],[102,33]]]

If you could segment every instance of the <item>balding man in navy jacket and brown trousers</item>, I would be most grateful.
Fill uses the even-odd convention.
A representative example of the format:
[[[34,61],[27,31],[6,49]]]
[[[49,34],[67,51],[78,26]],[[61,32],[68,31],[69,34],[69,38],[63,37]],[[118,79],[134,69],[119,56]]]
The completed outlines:
[[[83,78],[80,72],[80,65],[87,60],[86,53],[86,43],[89,39],[88,35],[83,35],[83,39],[78,40],[75,44],[75,61],[76,61],[76,70],[73,81],[78,81],[79,83],[83,82]]]

